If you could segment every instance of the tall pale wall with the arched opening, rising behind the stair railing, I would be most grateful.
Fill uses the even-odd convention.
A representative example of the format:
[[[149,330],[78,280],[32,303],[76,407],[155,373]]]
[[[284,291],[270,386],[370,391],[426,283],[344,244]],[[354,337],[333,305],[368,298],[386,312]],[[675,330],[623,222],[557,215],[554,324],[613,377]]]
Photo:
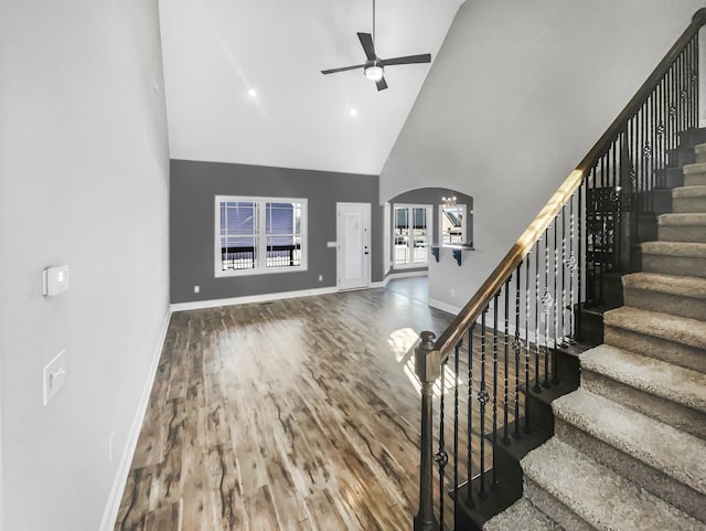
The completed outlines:
[[[472,195],[474,291],[700,7],[467,1],[383,168],[381,201],[430,182]]]

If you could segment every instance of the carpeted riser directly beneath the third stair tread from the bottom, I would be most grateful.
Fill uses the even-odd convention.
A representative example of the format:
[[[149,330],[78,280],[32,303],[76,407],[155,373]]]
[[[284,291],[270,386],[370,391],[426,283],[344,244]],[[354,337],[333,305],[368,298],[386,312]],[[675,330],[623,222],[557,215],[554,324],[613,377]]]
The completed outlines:
[[[556,420],[556,435],[649,492],[678,507],[687,514],[706,521],[706,505],[702,495],[688,486],[559,418]]]

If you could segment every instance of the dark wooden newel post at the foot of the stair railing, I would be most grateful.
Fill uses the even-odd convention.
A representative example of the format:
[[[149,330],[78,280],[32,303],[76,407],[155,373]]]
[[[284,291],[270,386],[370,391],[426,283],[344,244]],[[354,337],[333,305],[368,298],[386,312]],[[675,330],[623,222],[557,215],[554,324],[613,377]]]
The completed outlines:
[[[441,352],[435,347],[434,332],[419,334],[421,342],[415,349],[415,372],[421,383],[421,440],[419,465],[419,510],[414,519],[414,531],[438,531],[434,518],[434,448],[432,423],[434,382],[441,374]]]

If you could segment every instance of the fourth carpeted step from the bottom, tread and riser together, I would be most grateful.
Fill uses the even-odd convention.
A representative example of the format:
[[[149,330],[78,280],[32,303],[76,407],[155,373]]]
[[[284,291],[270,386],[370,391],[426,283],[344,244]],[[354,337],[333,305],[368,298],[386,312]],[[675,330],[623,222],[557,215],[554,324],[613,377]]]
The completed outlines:
[[[601,344],[581,360],[581,389],[706,440],[706,375]]]

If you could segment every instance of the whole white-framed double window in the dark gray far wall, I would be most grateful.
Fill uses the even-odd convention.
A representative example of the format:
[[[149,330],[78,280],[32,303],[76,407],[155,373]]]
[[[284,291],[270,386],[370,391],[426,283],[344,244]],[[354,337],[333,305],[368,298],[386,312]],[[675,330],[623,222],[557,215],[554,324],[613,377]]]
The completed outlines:
[[[217,277],[304,270],[307,200],[216,195]]]

